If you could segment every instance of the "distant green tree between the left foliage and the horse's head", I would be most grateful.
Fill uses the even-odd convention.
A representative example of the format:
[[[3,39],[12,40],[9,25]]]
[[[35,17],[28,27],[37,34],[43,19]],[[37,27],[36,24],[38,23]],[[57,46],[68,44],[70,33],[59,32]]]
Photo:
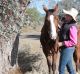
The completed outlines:
[[[40,15],[40,12],[36,8],[27,8],[26,13],[30,18],[30,26],[32,26],[34,29],[36,26],[42,24],[43,17]]]

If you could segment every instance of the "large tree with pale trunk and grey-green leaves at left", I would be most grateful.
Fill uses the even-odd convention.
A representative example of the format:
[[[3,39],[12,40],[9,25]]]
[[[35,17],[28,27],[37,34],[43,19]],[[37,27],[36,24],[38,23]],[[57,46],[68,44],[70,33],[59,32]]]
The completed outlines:
[[[24,10],[28,1],[0,0],[0,74],[9,74],[13,66],[17,64],[19,30],[24,24]]]

